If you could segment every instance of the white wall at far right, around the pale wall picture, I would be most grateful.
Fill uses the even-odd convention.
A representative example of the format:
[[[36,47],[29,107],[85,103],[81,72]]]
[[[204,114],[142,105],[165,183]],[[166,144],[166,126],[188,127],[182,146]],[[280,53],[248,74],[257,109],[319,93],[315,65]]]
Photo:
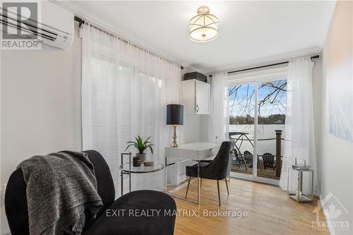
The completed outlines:
[[[328,78],[347,76],[353,80],[353,2],[338,1],[323,49],[323,106],[321,122],[321,198],[333,193],[348,210],[335,221],[350,222],[349,231],[332,229],[331,234],[353,234],[353,142],[328,132]],[[352,104],[353,105],[353,104]],[[328,206],[324,206],[327,214]],[[329,219],[326,217],[326,219]]]

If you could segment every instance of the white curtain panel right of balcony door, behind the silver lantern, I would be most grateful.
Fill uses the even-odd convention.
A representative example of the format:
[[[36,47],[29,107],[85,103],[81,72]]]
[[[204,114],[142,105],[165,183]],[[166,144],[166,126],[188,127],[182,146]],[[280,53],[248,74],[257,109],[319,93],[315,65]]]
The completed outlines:
[[[288,169],[294,158],[306,160],[314,170],[313,189],[318,193],[313,127],[313,62],[310,57],[289,61],[287,77],[287,114],[285,149],[280,187],[287,190]],[[297,188],[297,174],[289,171],[289,191]],[[304,176],[303,193],[310,193],[311,178]]]

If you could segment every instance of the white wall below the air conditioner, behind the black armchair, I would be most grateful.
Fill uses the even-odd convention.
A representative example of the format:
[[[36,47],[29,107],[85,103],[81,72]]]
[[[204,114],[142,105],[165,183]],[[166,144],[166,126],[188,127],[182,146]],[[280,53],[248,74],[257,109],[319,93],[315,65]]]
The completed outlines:
[[[81,40],[1,51],[1,186],[32,155],[81,150]],[[1,192],[1,234],[8,234]]]

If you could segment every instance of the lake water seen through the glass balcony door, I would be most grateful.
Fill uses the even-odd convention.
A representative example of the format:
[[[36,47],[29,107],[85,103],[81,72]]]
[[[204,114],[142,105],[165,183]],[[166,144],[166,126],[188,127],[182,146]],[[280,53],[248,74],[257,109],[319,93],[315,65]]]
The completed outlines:
[[[283,124],[269,124],[269,125],[258,125],[258,155],[263,155],[265,152],[269,152],[273,155],[276,154],[276,140],[261,140],[265,138],[276,138],[275,130],[282,130],[282,138],[285,138],[285,125]],[[248,138],[253,143],[253,125],[229,125],[229,132],[240,131],[249,133]],[[237,135],[234,135],[237,137]],[[241,144],[238,140],[237,146]],[[282,155],[283,155],[284,140],[282,140]],[[253,146],[249,143],[249,140],[244,140],[240,146],[241,153],[248,150],[253,153]]]

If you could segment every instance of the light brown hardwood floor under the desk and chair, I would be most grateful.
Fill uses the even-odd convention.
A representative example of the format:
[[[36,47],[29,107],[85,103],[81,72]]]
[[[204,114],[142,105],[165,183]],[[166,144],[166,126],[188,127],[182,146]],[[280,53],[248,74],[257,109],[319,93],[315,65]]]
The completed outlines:
[[[225,181],[220,181],[221,203],[218,207],[216,181],[203,179],[201,188],[201,205],[189,203],[174,198],[177,209],[191,210],[199,217],[191,215],[177,215],[174,234],[329,234],[328,230],[315,231],[311,222],[316,221],[313,210],[317,201],[313,203],[296,203],[288,198],[281,188],[261,183],[231,179],[229,195]],[[177,194],[185,196],[186,187],[181,188]],[[190,184],[188,198],[196,199],[197,181]],[[185,209],[185,210],[183,210]],[[205,217],[203,211],[217,210],[232,213],[233,211],[246,211],[247,217]],[[180,211],[180,212],[182,212]],[[325,221],[322,211],[320,221]]]

